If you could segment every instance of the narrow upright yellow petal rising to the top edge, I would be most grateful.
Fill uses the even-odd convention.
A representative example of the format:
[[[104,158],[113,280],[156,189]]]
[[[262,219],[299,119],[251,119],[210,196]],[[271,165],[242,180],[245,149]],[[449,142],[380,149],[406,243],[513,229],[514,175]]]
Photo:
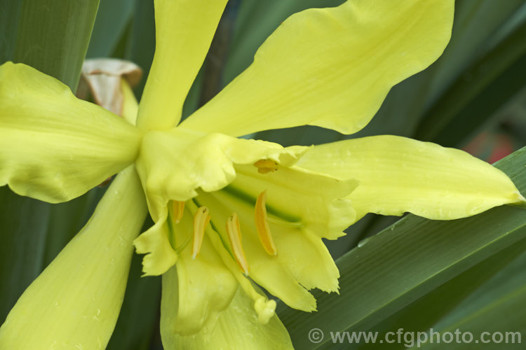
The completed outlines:
[[[201,68],[227,0],[156,0],[156,47],[137,125],[166,130],[181,118],[182,104]]]

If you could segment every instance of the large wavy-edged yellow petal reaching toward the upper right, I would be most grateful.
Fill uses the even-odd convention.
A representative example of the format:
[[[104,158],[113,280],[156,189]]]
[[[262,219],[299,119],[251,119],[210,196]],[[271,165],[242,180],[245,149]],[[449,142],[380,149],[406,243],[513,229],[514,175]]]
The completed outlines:
[[[292,15],[182,125],[232,136],[297,125],[351,134],[450,40],[452,0],[353,0]]]

